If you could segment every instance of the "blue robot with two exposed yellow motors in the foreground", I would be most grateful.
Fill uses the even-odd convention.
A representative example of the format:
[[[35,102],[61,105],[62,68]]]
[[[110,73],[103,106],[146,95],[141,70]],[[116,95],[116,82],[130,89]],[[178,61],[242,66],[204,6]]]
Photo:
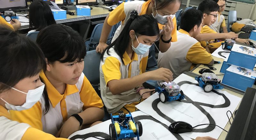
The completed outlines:
[[[137,140],[140,140],[140,136],[142,135],[141,122],[134,122],[131,112],[125,115],[123,111],[119,111],[118,114],[110,114],[112,121],[109,125],[110,139],[132,139],[137,137]]]

